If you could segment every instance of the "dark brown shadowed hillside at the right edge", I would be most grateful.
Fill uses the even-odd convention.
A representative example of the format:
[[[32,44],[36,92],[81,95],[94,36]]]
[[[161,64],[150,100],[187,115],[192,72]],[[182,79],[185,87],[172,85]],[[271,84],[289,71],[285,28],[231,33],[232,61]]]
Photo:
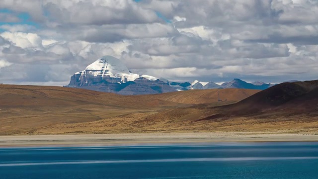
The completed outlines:
[[[231,115],[257,115],[274,111],[308,113],[318,107],[318,81],[283,83],[220,107]]]

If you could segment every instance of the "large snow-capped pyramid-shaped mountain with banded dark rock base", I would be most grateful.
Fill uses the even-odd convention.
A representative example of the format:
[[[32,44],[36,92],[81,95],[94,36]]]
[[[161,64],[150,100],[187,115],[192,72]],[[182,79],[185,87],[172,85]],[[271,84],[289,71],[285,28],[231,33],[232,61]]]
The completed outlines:
[[[155,77],[132,73],[119,59],[112,56],[103,56],[85,70],[75,73],[66,87],[126,95],[175,91]]]

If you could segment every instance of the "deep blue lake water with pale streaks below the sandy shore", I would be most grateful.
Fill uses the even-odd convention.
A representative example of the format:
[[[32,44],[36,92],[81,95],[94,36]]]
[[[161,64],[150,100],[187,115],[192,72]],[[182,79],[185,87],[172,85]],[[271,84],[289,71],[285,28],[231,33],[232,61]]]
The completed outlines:
[[[0,148],[0,179],[318,179],[318,143]]]

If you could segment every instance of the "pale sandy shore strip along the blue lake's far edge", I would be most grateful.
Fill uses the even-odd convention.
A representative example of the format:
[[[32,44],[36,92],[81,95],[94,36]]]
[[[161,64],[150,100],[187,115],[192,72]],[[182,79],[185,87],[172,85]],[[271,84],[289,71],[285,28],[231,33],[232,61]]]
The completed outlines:
[[[153,133],[0,136],[0,147],[102,146],[189,142],[318,141],[318,135],[280,133]]]

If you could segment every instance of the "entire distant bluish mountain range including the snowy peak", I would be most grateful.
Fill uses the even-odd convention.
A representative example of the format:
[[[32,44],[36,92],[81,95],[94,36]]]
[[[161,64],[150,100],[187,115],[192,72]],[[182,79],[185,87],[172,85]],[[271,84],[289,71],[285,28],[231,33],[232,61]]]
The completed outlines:
[[[294,82],[294,81],[291,81]],[[275,84],[276,85],[276,84]],[[171,82],[149,75],[134,74],[117,58],[103,56],[71,77],[70,88],[91,89],[124,95],[156,94],[190,89],[268,89],[274,84],[247,83],[240,79],[218,85],[214,82]]]

